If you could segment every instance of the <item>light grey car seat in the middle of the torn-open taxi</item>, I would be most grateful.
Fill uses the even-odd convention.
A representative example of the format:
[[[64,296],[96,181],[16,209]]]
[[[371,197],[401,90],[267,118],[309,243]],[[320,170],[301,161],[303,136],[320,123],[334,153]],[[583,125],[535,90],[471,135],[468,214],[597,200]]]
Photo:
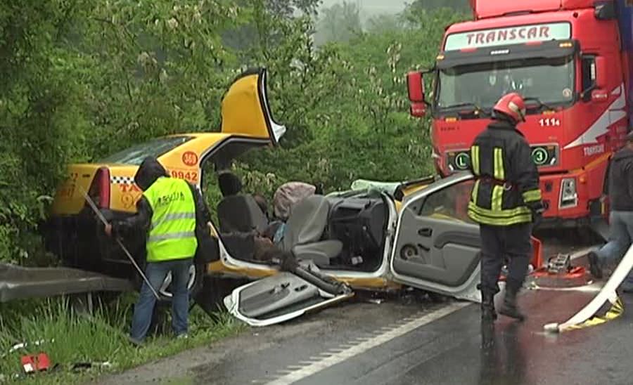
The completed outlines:
[[[316,266],[328,266],[343,251],[340,240],[321,240],[328,223],[330,204],[322,195],[299,202],[288,218],[281,248],[293,252],[298,260],[312,260]]]

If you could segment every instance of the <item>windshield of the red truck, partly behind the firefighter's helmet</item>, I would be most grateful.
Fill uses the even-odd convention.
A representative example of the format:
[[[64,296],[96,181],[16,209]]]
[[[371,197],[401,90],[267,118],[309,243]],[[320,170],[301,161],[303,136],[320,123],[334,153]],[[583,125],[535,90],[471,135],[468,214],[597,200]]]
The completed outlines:
[[[546,105],[566,105],[574,99],[574,73],[571,56],[459,65],[440,70],[435,107],[463,109],[468,103],[489,110],[510,92]]]

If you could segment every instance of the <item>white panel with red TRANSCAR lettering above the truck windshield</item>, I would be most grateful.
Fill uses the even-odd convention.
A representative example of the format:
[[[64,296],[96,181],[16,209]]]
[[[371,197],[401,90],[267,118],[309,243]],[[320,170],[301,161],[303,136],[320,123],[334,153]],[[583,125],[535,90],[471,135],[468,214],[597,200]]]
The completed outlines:
[[[567,22],[549,24],[521,25],[518,27],[499,28],[450,34],[446,39],[445,51],[461,48],[501,46],[504,44],[520,44],[529,41],[546,41],[569,39],[571,27]]]

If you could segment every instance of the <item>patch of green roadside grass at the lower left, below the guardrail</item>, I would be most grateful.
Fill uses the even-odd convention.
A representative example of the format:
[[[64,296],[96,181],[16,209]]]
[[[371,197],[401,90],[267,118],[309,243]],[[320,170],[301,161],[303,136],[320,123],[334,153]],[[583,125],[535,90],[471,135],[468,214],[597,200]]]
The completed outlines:
[[[93,315],[75,313],[64,299],[0,304],[0,357],[14,344],[46,340],[41,346],[27,346],[0,358],[0,384],[79,384],[103,372],[120,372],[245,329],[227,313],[210,317],[196,306],[189,317],[188,339],[174,339],[167,333],[150,337],[144,346],[136,348],[127,341],[134,298],[123,296],[109,306],[100,306]],[[60,370],[14,379],[15,374],[23,374],[20,357],[39,352],[47,353],[52,365],[60,364]],[[79,373],[71,370],[73,363],[103,361],[113,366]]]

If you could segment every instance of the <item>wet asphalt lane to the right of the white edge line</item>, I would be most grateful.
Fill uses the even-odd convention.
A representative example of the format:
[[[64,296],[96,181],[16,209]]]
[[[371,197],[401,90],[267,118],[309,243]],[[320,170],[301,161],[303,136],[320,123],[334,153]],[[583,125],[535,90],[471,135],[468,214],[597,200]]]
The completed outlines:
[[[494,327],[482,327],[478,307],[468,306],[294,383],[632,384],[633,323],[626,313],[598,327],[542,331],[590,297],[529,292],[522,299],[528,321],[503,319]],[[630,296],[626,301],[633,304]]]

